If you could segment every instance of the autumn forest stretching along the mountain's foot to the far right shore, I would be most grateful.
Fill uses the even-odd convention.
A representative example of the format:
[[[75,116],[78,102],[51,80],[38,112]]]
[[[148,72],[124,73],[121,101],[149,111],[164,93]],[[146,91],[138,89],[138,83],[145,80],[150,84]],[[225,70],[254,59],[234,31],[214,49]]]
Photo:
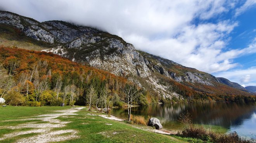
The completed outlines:
[[[139,91],[132,104],[142,106],[157,102],[255,101],[255,96],[195,91],[170,79],[166,82],[183,100],[164,99],[161,93],[150,94],[147,88],[139,88],[124,77],[52,53],[17,47],[0,47],[0,77],[0,97],[14,106],[61,106],[64,103],[105,109],[122,107],[126,98],[123,89],[129,85],[133,88],[131,91]]]

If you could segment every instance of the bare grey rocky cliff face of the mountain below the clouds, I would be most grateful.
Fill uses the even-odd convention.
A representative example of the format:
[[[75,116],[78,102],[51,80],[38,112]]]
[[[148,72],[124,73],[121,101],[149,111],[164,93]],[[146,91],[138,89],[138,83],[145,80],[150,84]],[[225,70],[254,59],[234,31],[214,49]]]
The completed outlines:
[[[52,48],[43,51],[89,64],[118,76],[126,76],[153,89],[164,98],[182,98],[168,80],[181,84],[215,86],[211,74],[184,67],[176,62],[135,50],[122,38],[91,27],[62,21],[38,22],[15,13],[0,11],[0,24],[12,25],[25,35],[47,42]],[[168,79],[163,81],[163,78]],[[194,89],[193,89],[194,90]]]

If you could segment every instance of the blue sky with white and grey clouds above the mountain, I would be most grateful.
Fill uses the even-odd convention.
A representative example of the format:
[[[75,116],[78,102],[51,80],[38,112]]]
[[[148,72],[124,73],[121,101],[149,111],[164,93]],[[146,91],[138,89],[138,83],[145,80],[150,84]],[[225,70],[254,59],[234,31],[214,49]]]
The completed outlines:
[[[40,22],[64,20],[150,54],[256,86],[256,0],[0,0]]]

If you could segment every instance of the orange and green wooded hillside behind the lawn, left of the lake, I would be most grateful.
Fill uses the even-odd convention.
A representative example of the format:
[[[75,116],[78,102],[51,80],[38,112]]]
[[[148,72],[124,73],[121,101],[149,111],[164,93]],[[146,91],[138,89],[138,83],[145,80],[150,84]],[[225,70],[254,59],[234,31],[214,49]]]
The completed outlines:
[[[47,52],[0,47],[0,95],[7,104],[18,106],[85,105],[87,94],[97,97],[92,104],[122,106],[123,77],[83,66]],[[149,104],[152,97],[142,91],[135,104]],[[106,95],[106,96],[105,96]],[[147,101],[148,98],[148,101]]]

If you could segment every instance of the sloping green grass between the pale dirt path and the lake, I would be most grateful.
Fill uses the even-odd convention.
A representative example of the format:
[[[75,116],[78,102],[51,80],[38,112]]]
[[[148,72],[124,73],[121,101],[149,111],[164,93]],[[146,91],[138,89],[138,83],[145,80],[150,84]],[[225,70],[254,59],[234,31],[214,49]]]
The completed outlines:
[[[104,119],[99,116],[85,115],[92,113],[82,110],[74,118],[59,118],[62,121],[72,121],[63,128],[57,130],[73,129],[79,131],[80,138],[62,142],[179,142],[176,138],[168,135],[151,133],[134,128],[125,122]],[[93,113],[92,113],[93,114]],[[85,124],[88,123],[88,124]],[[112,125],[107,125],[112,124]]]

